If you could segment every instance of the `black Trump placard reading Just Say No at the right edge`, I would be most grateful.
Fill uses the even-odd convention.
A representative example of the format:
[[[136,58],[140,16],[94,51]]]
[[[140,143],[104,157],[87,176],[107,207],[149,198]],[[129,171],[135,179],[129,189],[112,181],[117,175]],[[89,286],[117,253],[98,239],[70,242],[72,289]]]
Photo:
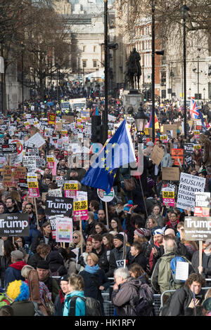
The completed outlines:
[[[211,217],[185,217],[184,239],[187,241],[205,241],[206,239],[211,239]]]

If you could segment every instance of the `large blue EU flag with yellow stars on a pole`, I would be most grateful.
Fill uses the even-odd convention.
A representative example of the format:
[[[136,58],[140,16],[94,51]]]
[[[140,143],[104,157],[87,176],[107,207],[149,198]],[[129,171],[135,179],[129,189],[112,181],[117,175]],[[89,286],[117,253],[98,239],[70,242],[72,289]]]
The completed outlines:
[[[113,187],[117,169],[120,166],[127,168],[129,163],[134,161],[136,161],[136,157],[132,138],[124,119],[113,137],[99,152],[81,183],[89,187],[103,189],[108,194]]]

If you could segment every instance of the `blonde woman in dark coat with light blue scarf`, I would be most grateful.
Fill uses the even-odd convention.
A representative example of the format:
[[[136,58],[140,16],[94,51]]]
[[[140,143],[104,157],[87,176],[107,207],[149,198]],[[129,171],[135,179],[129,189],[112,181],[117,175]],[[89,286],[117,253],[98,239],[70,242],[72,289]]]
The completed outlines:
[[[103,297],[101,292],[110,286],[106,272],[98,266],[98,256],[95,253],[88,253],[87,265],[80,272],[84,279],[84,296],[95,298],[101,303],[103,312]],[[104,315],[104,312],[103,312]]]

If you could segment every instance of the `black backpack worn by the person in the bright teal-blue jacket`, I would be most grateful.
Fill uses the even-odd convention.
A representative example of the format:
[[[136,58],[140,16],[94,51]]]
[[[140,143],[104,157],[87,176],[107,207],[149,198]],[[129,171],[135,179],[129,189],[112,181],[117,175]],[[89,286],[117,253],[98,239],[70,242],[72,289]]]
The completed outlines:
[[[91,297],[83,298],[80,296],[72,296],[69,298],[68,303],[70,301],[70,310],[68,316],[75,316],[75,304],[77,298],[80,298],[85,302],[86,316],[103,316],[101,303],[99,301]]]

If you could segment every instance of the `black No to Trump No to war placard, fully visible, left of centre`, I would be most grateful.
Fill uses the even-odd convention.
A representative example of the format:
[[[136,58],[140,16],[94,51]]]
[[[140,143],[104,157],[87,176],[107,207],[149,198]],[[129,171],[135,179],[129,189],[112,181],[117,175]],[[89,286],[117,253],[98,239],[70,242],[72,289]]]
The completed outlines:
[[[45,213],[48,216],[72,216],[72,198],[46,197]]]

